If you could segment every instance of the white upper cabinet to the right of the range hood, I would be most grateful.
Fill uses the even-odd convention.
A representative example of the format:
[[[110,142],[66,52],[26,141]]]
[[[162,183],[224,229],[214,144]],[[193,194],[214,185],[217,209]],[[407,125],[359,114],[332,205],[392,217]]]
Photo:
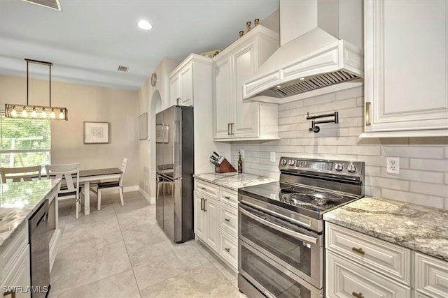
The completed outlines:
[[[365,0],[365,133],[448,135],[448,2]]]

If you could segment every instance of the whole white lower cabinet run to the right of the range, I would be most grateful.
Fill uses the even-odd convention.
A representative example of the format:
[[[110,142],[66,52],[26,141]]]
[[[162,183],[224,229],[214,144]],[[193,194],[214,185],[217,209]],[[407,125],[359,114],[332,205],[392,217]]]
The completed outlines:
[[[325,223],[325,297],[448,297],[448,262]]]

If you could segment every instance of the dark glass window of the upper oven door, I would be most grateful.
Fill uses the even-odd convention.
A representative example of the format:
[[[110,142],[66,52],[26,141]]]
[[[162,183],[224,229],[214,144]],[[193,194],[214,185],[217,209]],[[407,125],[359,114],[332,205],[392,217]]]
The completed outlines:
[[[273,228],[269,228],[258,221],[241,216],[241,237],[264,248],[276,258],[281,259],[285,267],[311,276],[311,245],[304,241],[290,237]]]

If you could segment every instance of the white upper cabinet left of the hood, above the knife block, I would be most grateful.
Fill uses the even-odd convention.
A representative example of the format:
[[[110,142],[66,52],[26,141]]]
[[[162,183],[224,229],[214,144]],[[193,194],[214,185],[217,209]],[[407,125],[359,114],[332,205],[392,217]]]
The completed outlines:
[[[243,101],[243,82],[279,47],[257,26],[214,58],[214,140],[279,139],[278,105]]]

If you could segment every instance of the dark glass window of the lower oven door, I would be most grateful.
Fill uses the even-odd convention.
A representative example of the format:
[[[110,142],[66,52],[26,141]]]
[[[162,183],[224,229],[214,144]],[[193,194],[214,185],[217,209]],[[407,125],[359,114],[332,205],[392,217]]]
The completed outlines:
[[[310,290],[294,281],[293,278],[283,274],[283,272],[265,260],[262,260],[246,246],[241,246],[241,269],[275,297],[311,297]]]

